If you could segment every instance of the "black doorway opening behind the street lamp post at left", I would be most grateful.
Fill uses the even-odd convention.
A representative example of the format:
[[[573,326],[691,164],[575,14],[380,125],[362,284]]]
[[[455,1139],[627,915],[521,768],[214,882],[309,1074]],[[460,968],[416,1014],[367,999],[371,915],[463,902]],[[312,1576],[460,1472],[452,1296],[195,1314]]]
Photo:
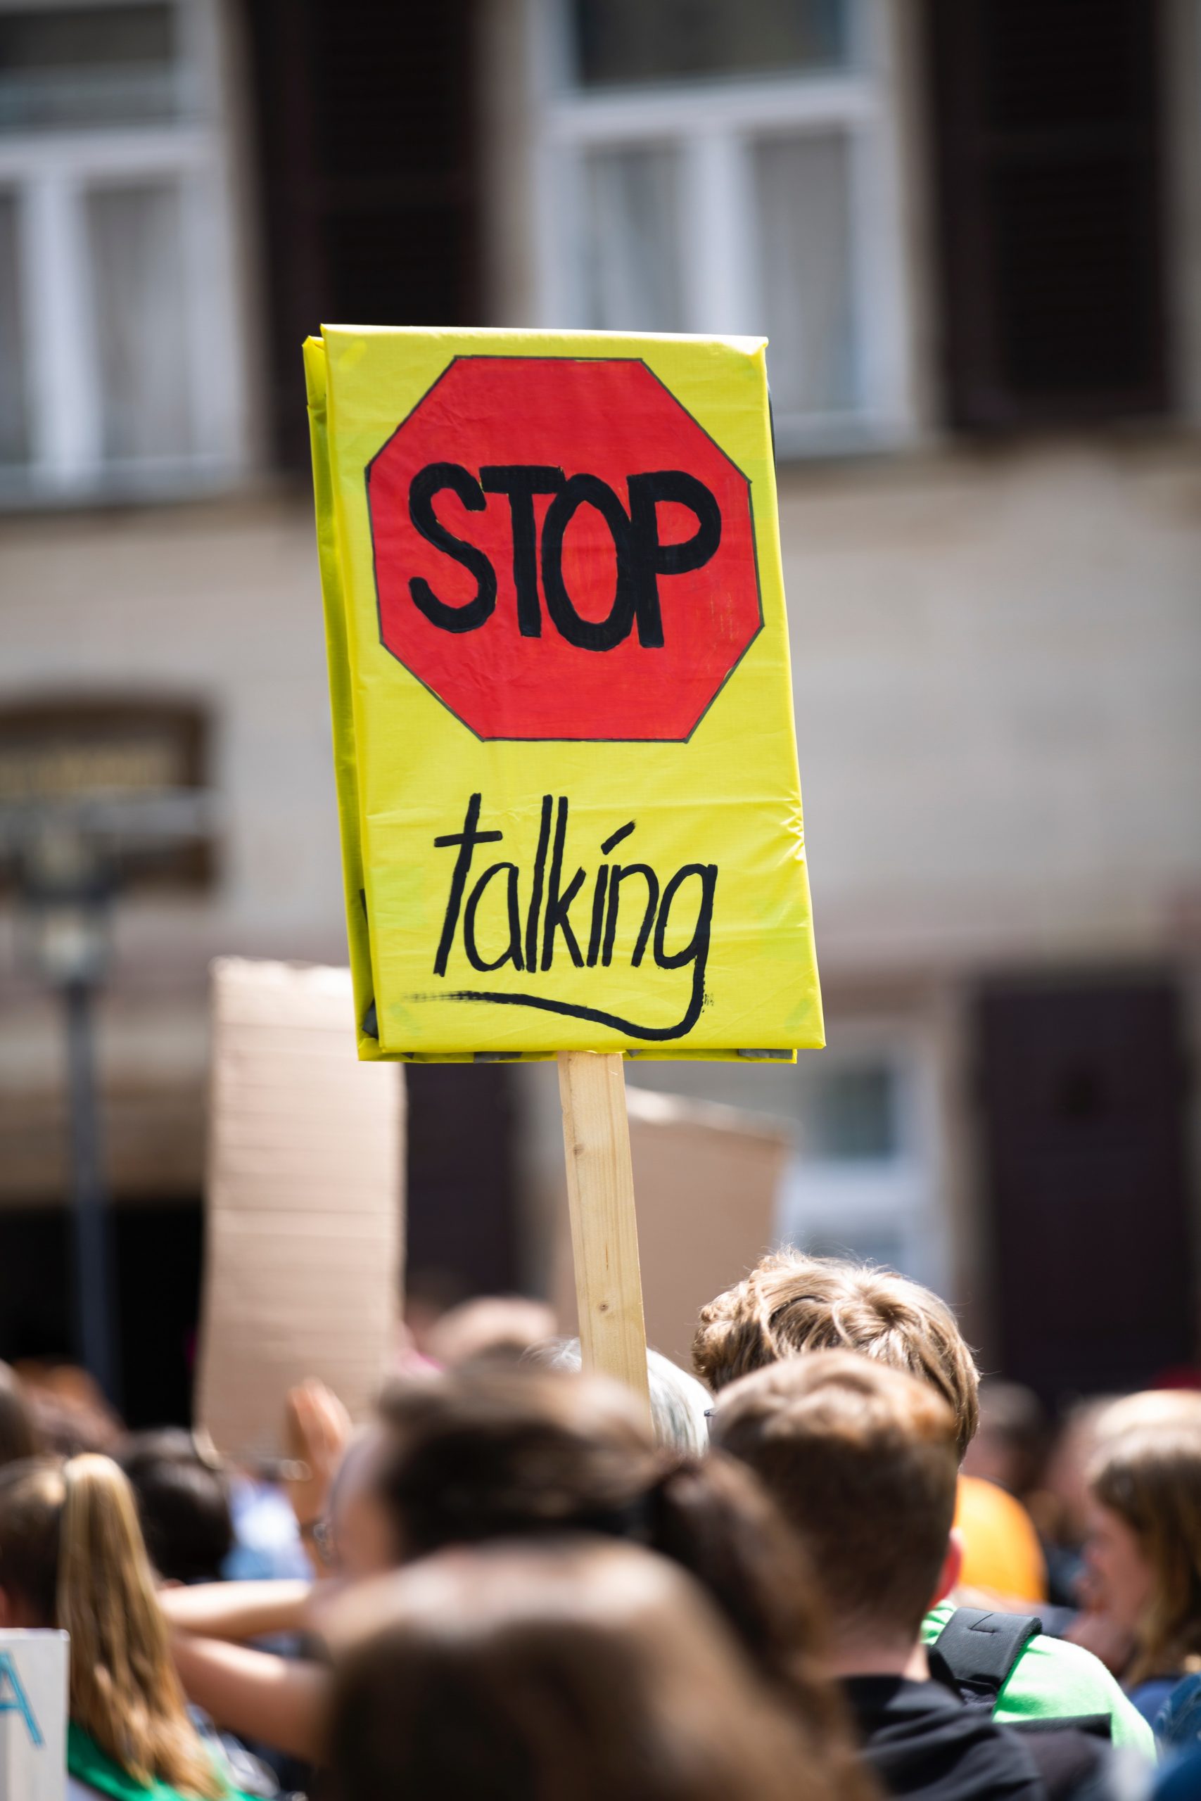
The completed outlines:
[[[0,1210],[0,1356],[74,1362],[70,1221],[61,1207]],[[117,1205],[121,1412],[131,1426],[191,1421],[200,1315],[200,1201]]]

